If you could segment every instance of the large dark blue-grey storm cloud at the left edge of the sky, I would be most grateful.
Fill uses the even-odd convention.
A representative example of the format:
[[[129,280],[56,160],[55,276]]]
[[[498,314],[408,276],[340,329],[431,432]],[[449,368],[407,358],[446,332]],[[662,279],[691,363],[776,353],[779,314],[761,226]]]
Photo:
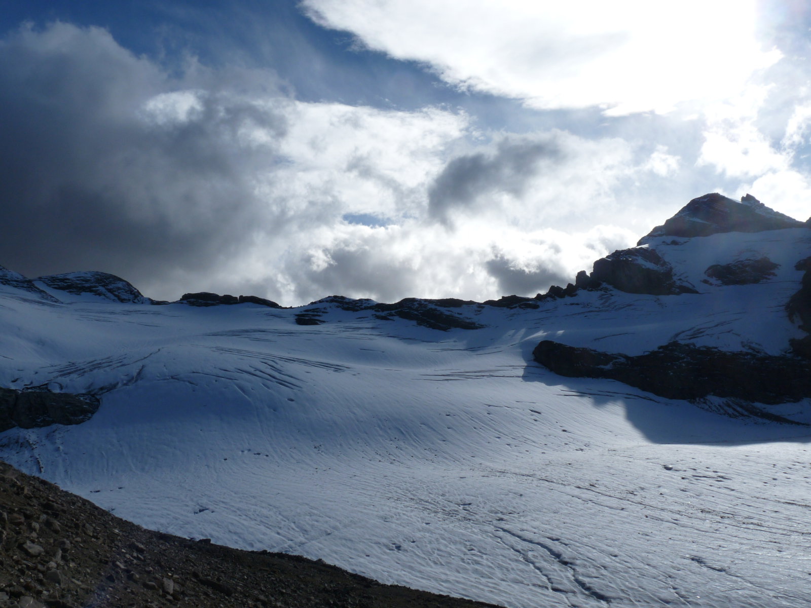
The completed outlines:
[[[143,285],[231,255],[262,223],[251,176],[272,164],[243,131],[285,129],[250,101],[257,82],[266,89],[272,75],[215,79],[191,62],[169,77],[98,28],[0,41],[0,263]],[[171,96],[181,90],[196,91],[182,94],[185,108]]]

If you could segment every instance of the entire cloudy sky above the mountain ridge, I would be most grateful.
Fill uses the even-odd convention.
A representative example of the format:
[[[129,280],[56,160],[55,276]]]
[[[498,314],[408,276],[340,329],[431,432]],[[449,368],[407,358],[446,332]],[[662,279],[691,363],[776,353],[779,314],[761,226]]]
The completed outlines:
[[[0,264],[482,301],[690,199],[811,215],[801,0],[6,0]]]

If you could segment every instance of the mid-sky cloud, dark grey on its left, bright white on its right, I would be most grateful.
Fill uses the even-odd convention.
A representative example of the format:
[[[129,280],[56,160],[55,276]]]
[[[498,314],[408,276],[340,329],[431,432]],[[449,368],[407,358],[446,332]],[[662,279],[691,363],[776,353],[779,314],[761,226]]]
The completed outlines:
[[[499,134],[444,165],[428,188],[428,211],[446,225],[473,215],[528,230],[585,230],[594,222],[589,213],[605,212],[624,181],[641,170],[653,172],[649,164],[620,138],[558,130]]]

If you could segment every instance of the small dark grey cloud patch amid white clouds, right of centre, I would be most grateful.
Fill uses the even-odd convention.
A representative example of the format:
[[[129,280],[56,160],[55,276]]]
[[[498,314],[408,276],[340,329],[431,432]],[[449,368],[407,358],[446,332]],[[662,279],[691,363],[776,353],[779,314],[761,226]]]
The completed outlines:
[[[436,219],[448,221],[449,212],[487,205],[487,195],[504,192],[521,197],[543,165],[555,165],[564,156],[554,135],[504,138],[495,149],[457,156],[431,184],[428,210]]]

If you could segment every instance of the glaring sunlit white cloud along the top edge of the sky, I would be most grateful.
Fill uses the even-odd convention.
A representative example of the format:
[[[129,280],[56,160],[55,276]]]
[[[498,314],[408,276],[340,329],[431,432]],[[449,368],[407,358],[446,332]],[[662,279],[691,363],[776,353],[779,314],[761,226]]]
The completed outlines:
[[[781,57],[757,40],[755,0],[303,0],[303,7],[369,49],[537,109],[666,112],[734,94]]]

